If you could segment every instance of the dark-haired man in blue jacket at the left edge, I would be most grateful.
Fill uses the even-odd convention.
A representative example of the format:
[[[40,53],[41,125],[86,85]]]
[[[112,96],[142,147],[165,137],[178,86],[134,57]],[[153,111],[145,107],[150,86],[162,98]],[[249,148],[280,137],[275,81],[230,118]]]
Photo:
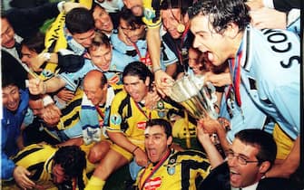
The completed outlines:
[[[33,185],[28,179],[30,173],[23,166],[15,166],[10,157],[15,156],[19,147],[21,125],[28,107],[28,90],[21,90],[12,73],[2,75],[2,113],[1,119],[1,180],[10,180],[13,176],[21,187]],[[26,184],[20,184],[25,180]]]

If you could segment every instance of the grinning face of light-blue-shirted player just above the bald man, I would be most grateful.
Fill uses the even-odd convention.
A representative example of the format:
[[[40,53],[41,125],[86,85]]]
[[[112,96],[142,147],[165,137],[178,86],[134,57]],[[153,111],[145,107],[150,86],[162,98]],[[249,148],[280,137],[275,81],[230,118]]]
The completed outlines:
[[[90,56],[93,64],[102,69],[103,71],[108,71],[110,69],[110,64],[112,60],[111,47],[106,47],[106,45],[91,47]]]

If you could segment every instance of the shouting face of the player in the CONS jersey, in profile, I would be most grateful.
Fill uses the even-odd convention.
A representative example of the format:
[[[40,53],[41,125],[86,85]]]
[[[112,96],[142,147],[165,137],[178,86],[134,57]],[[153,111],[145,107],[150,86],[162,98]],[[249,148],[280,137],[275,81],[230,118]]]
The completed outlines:
[[[208,16],[195,16],[191,20],[191,32],[194,34],[193,47],[198,48],[201,52],[206,52],[208,60],[212,64],[221,65],[234,56],[230,41],[224,33],[221,35],[213,30]]]

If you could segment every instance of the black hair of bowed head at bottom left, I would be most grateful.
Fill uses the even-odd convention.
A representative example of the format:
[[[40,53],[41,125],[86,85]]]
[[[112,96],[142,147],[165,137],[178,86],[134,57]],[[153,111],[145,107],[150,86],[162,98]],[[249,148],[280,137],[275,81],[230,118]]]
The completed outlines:
[[[54,154],[54,164],[63,167],[64,174],[69,177],[83,175],[83,169],[86,167],[85,153],[78,146],[59,147]]]

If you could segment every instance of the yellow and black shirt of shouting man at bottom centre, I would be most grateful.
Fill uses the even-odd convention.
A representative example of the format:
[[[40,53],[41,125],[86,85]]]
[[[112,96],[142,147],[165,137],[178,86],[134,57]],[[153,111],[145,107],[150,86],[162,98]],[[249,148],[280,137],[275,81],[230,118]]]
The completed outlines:
[[[152,171],[155,171],[152,176]],[[151,163],[142,169],[136,181],[139,189],[195,190],[195,180],[204,179],[211,170],[209,159],[205,154],[195,150],[175,152],[155,169]],[[150,176],[150,177],[148,177]]]

